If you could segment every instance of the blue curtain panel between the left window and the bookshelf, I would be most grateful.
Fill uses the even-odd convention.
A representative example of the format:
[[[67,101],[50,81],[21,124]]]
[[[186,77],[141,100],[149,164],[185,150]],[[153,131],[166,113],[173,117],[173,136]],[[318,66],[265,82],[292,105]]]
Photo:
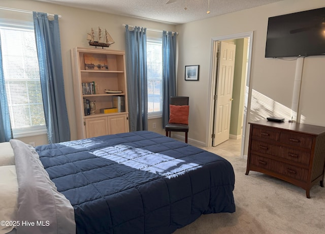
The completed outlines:
[[[41,88],[49,143],[70,141],[70,127],[64,94],[58,16],[33,12]]]

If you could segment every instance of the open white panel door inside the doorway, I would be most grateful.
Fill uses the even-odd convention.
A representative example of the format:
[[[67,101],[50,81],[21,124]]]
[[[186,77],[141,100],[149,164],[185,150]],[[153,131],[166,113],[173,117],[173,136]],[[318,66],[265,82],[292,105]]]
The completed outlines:
[[[213,146],[229,139],[236,45],[221,42],[219,51]]]

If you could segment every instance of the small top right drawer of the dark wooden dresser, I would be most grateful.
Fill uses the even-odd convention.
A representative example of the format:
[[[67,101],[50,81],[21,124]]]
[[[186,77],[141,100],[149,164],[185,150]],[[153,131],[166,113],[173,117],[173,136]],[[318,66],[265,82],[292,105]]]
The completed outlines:
[[[306,135],[299,135],[297,133],[281,132],[280,142],[311,149],[313,138]]]

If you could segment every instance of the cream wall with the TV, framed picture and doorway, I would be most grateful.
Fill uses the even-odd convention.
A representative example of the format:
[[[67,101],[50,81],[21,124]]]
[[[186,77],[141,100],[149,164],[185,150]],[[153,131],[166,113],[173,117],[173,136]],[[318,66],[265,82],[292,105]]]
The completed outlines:
[[[190,96],[189,139],[206,142],[211,89],[211,39],[254,32],[250,74],[251,106],[247,122],[270,115],[291,118],[296,60],[265,58],[268,17],[325,7],[323,0],[285,0],[205,20],[177,25],[179,32],[178,95]],[[200,81],[184,81],[184,66],[200,64]],[[302,121],[325,126],[325,56],[304,59],[300,110]],[[245,145],[249,126],[246,123]],[[247,148],[247,147],[246,147]],[[247,150],[246,150],[247,152]]]

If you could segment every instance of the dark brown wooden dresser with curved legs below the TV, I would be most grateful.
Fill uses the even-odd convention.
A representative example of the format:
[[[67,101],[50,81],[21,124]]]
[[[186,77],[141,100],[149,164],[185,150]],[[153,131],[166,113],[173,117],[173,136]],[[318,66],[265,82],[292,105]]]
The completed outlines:
[[[306,190],[323,187],[325,127],[302,123],[250,122],[246,175],[256,171]]]

